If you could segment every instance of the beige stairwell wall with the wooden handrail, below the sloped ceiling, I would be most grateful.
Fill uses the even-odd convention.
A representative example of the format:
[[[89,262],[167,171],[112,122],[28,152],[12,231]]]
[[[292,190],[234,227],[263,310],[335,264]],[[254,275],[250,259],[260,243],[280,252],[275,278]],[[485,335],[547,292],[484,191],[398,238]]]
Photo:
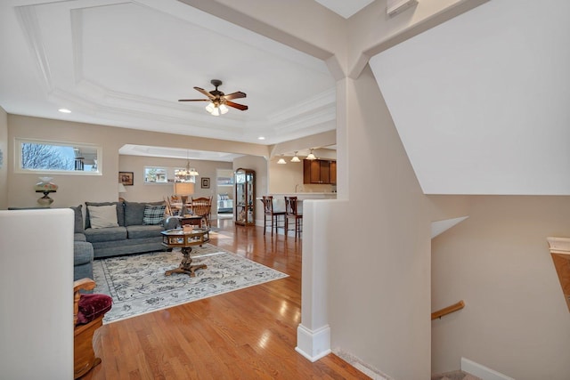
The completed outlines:
[[[570,378],[570,312],[546,241],[570,236],[570,197],[460,202],[468,219],[432,241],[432,311],[466,307],[432,322],[433,372],[466,357],[517,380]]]

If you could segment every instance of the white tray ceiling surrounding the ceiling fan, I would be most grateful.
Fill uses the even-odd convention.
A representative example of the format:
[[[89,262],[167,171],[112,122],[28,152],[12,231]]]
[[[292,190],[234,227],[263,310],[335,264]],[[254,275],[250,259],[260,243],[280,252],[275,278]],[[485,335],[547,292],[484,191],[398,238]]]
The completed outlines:
[[[336,127],[323,61],[176,0],[3,0],[0,25],[8,113],[267,145]],[[249,109],[178,102],[211,79]]]

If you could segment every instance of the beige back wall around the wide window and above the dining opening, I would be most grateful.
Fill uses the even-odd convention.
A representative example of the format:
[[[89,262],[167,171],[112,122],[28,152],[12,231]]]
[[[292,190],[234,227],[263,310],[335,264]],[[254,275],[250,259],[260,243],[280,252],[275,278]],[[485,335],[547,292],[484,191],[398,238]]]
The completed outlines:
[[[53,176],[53,181],[59,185],[57,192],[51,195],[51,198],[54,199],[53,207],[77,206],[85,201],[99,202],[117,199],[118,150],[125,144],[227,151],[259,156],[267,155],[268,151],[267,147],[258,144],[204,139],[169,133],[144,132],[128,128],[73,123],[39,117],[8,115],[8,141],[10,142],[9,149],[11,151],[14,138],[16,137],[48,141],[88,142],[102,145],[102,175],[51,175]],[[38,197],[33,191],[33,186],[37,182],[37,177],[41,174],[14,173],[12,157],[7,164],[8,178],[10,180],[8,182],[8,206],[37,206]],[[211,173],[210,179],[215,178],[215,171]],[[141,178],[142,174],[136,174],[134,181],[140,183]],[[151,198],[155,198],[158,195],[151,193]],[[127,192],[126,198],[128,199],[128,197]],[[137,198],[147,200],[141,194],[138,194]]]

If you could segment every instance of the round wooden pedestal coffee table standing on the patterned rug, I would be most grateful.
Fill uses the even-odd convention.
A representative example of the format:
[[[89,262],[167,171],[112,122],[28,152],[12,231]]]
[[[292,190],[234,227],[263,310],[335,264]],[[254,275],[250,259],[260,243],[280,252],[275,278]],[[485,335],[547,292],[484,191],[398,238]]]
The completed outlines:
[[[172,273],[186,273],[190,277],[196,276],[194,271],[199,269],[206,269],[205,264],[192,265],[190,253],[193,246],[201,246],[207,243],[210,239],[208,229],[192,229],[191,231],[184,231],[182,229],[163,230],[162,245],[168,248],[180,247],[183,258],[182,263],[178,268],[166,271],[164,274],[170,276]]]

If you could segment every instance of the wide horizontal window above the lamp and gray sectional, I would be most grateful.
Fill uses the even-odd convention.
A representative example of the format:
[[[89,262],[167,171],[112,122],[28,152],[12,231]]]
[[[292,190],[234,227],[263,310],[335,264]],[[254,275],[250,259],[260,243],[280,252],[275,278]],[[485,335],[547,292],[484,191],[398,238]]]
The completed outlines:
[[[102,174],[100,146],[55,141],[16,139],[16,172]]]

